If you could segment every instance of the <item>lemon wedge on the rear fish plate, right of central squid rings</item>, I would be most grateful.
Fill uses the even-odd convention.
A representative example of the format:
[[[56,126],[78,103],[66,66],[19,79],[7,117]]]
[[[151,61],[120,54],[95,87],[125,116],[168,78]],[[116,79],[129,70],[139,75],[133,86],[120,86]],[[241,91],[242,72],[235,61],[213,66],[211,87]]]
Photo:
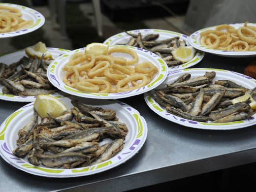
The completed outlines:
[[[189,62],[193,59],[196,50],[192,46],[179,47],[171,52],[175,60],[183,63]]]

